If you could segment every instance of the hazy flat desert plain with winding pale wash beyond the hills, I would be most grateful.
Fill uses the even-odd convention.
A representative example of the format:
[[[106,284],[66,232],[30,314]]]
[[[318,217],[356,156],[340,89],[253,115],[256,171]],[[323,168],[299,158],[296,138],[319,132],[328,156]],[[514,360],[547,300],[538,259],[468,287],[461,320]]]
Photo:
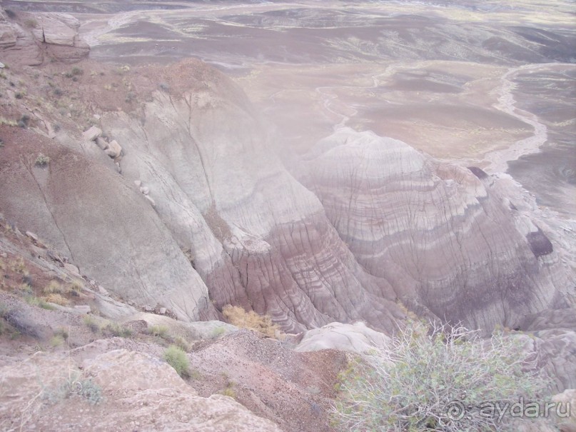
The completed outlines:
[[[487,171],[521,156],[510,173],[540,204],[576,211],[570,1],[56,4],[93,59],[225,69],[288,154],[346,125]]]

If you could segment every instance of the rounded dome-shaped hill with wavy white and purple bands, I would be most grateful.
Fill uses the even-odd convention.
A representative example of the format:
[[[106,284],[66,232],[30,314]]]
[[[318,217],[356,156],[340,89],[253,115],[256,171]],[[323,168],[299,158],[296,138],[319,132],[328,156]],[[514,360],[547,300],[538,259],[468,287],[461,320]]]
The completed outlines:
[[[417,311],[490,329],[562,304],[552,243],[482,170],[351,129],[320,141],[307,164],[305,184],[340,238]]]

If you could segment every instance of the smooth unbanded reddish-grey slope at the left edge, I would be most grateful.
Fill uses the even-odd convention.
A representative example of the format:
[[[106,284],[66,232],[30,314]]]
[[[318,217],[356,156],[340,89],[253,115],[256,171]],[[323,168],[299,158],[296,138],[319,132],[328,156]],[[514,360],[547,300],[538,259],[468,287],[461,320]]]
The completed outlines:
[[[158,303],[186,321],[216,318],[198,273],[121,176],[32,131],[0,128],[6,219],[39,233],[82,274],[123,298]],[[36,163],[39,154],[49,158],[44,166]]]

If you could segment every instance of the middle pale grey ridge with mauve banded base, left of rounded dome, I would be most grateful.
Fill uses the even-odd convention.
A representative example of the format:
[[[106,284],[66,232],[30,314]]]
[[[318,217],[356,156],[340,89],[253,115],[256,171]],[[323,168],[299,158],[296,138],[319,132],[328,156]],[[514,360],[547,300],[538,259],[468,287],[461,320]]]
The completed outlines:
[[[166,75],[185,76],[187,89],[153,91],[139,119],[110,112],[103,129],[217,308],[240,303],[290,331],[355,319],[391,330],[403,316],[392,289],[358,265],[320,201],[273,156],[245,96],[199,61]]]

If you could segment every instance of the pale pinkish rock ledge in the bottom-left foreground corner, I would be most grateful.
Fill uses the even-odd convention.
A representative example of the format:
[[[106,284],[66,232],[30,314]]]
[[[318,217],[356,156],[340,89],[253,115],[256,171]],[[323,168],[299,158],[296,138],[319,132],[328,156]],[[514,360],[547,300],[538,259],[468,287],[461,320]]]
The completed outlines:
[[[10,389],[0,394],[0,420],[7,430],[34,425],[43,431],[59,431],[65,421],[66,427],[91,431],[280,432],[275,423],[256,416],[233,398],[198,396],[167,363],[125,349],[100,353],[84,362],[36,353],[0,371],[0,385]],[[85,391],[84,397],[62,391],[83,386],[91,391]],[[96,408],[89,404],[97,397],[94,388],[101,389]]]

